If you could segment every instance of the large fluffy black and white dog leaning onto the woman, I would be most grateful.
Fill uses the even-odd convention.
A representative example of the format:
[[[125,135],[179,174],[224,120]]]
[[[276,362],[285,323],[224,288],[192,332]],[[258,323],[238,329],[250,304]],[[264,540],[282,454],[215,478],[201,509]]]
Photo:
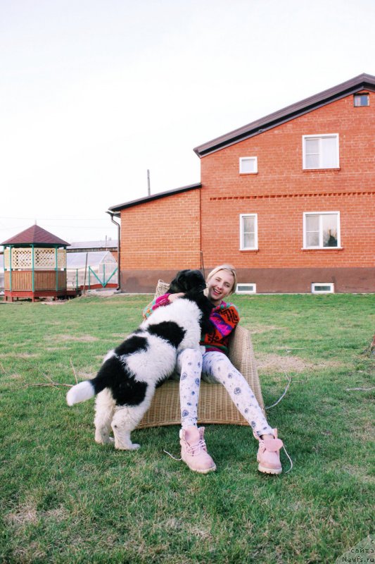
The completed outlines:
[[[184,273],[184,274],[183,274]],[[131,432],[150,407],[155,387],[174,371],[177,353],[199,348],[201,331],[210,330],[212,304],[203,294],[200,271],[180,271],[170,285],[171,293],[186,292],[170,305],[155,309],[139,329],[110,350],[96,377],[70,388],[68,405],[96,396],[95,441],[133,450]],[[186,291],[187,290],[187,291]]]

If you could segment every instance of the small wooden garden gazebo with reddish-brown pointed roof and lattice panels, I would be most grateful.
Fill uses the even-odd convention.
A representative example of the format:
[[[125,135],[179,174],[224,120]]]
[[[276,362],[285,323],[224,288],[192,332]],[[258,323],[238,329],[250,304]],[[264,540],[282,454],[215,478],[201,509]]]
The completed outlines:
[[[58,298],[67,294],[66,241],[33,225],[4,245],[4,298]]]

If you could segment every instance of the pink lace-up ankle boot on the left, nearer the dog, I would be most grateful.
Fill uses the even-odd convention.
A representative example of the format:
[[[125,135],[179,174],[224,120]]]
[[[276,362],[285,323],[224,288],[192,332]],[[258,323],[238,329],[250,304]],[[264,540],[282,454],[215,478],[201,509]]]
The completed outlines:
[[[205,428],[187,427],[179,431],[181,458],[193,472],[208,474],[216,470],[215,462],[207,452],[204,439]]]

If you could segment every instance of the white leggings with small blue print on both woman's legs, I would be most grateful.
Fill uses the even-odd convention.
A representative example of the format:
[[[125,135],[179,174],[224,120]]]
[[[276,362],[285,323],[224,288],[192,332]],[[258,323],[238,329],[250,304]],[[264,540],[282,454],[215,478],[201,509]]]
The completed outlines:
[[[179,398],[183,429],[191,425],[196,427],[199,387],[203,374],[205,381],[224,386],[241,415],[258,436],[273,434],[248,382],[226,355],[210,351],[202,356],[200,350],[185,349],[177,357],[177,370],[181,374]]]

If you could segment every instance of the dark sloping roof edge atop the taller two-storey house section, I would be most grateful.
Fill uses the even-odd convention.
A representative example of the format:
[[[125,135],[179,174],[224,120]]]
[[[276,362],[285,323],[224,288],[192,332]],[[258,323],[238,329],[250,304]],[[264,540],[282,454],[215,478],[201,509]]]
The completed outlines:
[[[224,149],[224,147],[229,147],[229,145],[234,145],[239,141],[248,139],[249,137],[254,137],[259,135],[269,129],[281,125],[286,121],[290,121],[293,118],[307,114],[309,111],[317,109],[331,102],[335,102],[350,94],[355,94],[361,90],[371,90],[375,92],[375,76],[362,74],[355,78],[342,82],[337,86],[329,88],[329,90],[324,90],[324,92],[319,92],[319,94],[314,94],[310,98],[305,98],[300,102],[296,102],[291,106],[287,106],[284,109],[275,111],[274,114],[269,114],[264,118],[260,118],[248,125],[243,125],[242,128],[230,131],[225,135],[216,137],[212,141],[203,143],[196,147],[194,152],[198,157],[205,157],[205,155]]]

